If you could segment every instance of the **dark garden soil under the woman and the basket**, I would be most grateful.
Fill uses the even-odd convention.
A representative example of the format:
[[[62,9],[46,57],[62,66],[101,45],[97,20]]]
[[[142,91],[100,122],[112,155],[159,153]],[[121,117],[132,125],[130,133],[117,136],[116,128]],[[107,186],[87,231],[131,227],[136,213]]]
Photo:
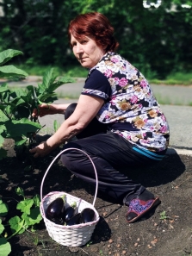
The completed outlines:
[[[16,204],[22,198],[15,194],[15,188],[22,187],[29,198],[40,194],[44,173],[58,153],[42,159],[28,155],[18,159],[13,147],[13,140],[5,141],[9,157],[1,160],[0,165],[0,197],[9,205],[9,215],[3,217],[3,223],[20,214]],[[28,168],[29,165],[32,168]],[[27,230],[9,240],[12,249],[9,256],[192,255],[192,156],[173,153],[150,168],[127,168],[122,172],[160,197],[161,204],[138,222],[128,224],[127,207],[98,193],[95,207],[100,221],[86,245],[60,246],[49,237],[41,221],[34,227],[35,232]],[[65,191],[89,203],[93,202],[95,194],[95,188],[71,175],[59,159],[48,172],[43,186],[44,195],[50,191]]]

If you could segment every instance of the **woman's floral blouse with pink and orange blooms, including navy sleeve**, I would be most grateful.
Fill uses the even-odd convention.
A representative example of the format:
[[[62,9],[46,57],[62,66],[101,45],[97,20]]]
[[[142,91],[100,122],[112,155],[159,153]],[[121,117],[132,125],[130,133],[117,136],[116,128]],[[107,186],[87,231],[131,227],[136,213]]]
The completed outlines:
[[[162,151],[169,144],[169,125],[146,78],[126,59],[108,52],[90,69],[84,95],[104,99],[99,122],[138,147]]]

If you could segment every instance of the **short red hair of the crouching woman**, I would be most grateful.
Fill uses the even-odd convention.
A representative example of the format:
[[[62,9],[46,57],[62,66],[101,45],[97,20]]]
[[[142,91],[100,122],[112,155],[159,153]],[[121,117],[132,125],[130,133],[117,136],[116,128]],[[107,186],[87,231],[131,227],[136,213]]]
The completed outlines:
[[[77,16],[68,27],[68,38],[71,43],[71,34],[77,39],[89,36],[96,41],[99,47],[106,52],[114,52],[119,43],[114,37],[114,28],[108,18],[99,12],[90,12]],[[107,46],[107,47],[106,47]]]

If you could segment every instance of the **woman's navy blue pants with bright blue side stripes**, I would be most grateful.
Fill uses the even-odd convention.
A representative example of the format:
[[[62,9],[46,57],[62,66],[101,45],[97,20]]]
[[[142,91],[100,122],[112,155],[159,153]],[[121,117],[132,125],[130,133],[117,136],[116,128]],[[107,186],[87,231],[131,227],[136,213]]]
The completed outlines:
[[[66,109],[65,119],[71,116],[75,107],[76,104],[71,104]],[[98,190],[115,198],[118,203],[126,205],[142,194],[146,188],[121,173],[121,169],[127,169],[130,173],[130,170],[136,167],[153,165],[163,159],[166,153],[166,150],[161,153],[152,153],[141,149],[119,134],[108,131],[107,126],[98,122],[96,118],[81,134],[77,134],[77,140],[68,142],[63,149],[69,147],[81,149],[90,155],[96,165]],[[78,178],[83,178],[93,185],[96,184],[93,166],[84,153],[69,150],[61,155],[61,160],[65,167]]]

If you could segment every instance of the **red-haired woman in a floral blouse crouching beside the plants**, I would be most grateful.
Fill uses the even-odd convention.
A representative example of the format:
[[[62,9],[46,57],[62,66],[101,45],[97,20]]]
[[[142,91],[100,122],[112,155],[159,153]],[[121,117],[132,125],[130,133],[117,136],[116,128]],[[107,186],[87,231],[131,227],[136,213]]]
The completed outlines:
[[[55,147],[75,147],[96,165],[98,188],[128,206],[127,222],[135,222],[160,203],[158,197],[119,170],[152,165],[164,159],[169,127],[146,78],[115,53],[118,42],[108,19],[93,12],[77,16],[68,28],[73,53],[89,69],[78,103],[46,104],[34,116],[65,114],[58,131],[31,150],[42,157]],[[71,140],[74,136],[78,140]],[[69,150],[63,164],[77,177],[95,184],[95,174],[84,153]]]

